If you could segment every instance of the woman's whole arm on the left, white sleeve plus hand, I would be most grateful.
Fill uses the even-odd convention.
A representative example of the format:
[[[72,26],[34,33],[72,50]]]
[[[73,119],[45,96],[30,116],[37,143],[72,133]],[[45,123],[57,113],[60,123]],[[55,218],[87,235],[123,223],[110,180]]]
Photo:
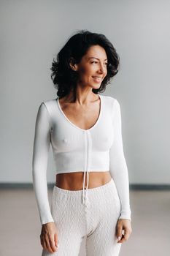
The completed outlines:
[[[42,102],[36,116],[32,177],[36,203],[39,208],[40,222],[42,224],[40,235],[41,244],[48,252],[56,252],[58,249],[58,230],[55,227],[55,222],[50,211],[47,193],[47,160],[50,142],[50,116],[45,103]]]

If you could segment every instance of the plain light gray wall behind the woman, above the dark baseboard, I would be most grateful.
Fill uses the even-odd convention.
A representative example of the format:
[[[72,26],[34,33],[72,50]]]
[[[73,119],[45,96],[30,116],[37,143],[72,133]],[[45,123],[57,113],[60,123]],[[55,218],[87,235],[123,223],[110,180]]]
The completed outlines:
[[[120,72],[105,95],[120,101],[131,184],[170,184],[170,2],[0,1],[1,182],[32,182],[39,104],[54,99],[50,67],[78,29],[105,34]],[[47,179],[55,181],[50,148]]]

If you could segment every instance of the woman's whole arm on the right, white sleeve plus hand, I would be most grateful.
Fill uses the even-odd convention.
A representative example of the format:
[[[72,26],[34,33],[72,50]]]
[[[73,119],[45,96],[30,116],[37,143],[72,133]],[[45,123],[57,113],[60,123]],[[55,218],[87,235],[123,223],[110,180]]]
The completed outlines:
[[[131,208],[129,199],[128,167],[125,162],[123,151],[121,111],[117,99],[114,99],[113,102],[112,118],[114,140],[109,151],[109,170],[115,181],[121,204],[120,217],[117,223],[118,237],[121,236],[123,228],[125,229],[125,233],[131,233]]]

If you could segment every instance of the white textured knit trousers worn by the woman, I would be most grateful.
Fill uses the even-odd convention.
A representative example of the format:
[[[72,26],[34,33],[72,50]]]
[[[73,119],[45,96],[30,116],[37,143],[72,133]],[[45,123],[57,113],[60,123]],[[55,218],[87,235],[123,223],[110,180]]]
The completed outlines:
[[[86,239],[87,256],[117,256],[117,220],[120,199],[111,180],[88,189],[88,200],[82,204],[82,190],[53,187],[51,213],[58,230],[58,251],[42,250],[42,256],[78,256],[82,239]]]

